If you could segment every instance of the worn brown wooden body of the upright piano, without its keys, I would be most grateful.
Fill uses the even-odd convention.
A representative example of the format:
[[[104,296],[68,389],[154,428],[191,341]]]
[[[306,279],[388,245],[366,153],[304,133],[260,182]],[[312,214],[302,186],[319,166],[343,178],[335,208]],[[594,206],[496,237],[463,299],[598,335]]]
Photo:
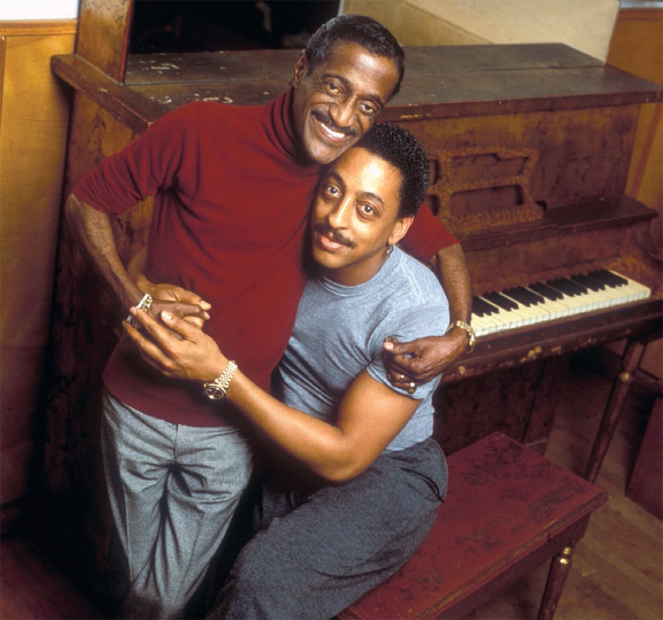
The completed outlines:
[[[113,13],[126,4],[85,2],[77,54],[53,60],[74,89],[66,192],[169,110],[199,99],[262,104],[288,86],[295,51],[127,57],[126,15]],[[564,354],[660,328],[661,265],[647,245],[655,213],[624,197],[639,108],[660,89],[557,44],[407,54],[383,120],[429,153],[430,207],[463,240],[475,293],[603,267],[651,289],[644,301],[481,338],[446,374],[437,433],[447,451],[494,430],[543,449]],[[124,260],[144,244],[150,209],[116,223]],[[113,563],[99,395],[124,317],[65,225],[56,277],[44,496],[62,548],[104,567],[88,575],[102,594]]]

